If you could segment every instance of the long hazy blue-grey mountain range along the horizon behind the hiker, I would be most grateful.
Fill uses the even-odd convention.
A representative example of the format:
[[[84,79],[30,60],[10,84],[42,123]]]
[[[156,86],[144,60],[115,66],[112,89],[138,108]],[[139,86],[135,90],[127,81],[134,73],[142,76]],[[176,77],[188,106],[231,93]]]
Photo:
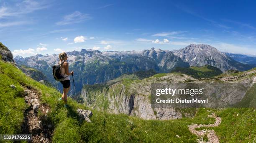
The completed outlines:
[[[204,66],[206,64],[219,68],[222,72],[236,69],[245,71],[253,68],[231,58],[216,48],[206,44],[190,44],[180,50],[145,49],[143,51],[107,51],[92,49],[67,52],[69,69],[74,70],[76,90],[81,91],[85,84],[99,84],[115,79],[123,74],[154,70],[157,73],[169,73],[176,67]],[[31,57],[14,58],[18,65],[38,69],[47,80],[61,90],[59,82],[52,78],[52,65],[59,61],[57,54],[37,54]],[[72,93],[72,92],[71,92]]]

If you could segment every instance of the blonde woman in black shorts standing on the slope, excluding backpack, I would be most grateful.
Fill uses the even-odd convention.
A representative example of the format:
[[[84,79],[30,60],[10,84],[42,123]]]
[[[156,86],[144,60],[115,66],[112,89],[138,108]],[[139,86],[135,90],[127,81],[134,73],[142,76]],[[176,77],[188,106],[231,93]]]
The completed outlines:
[[[62,52],[59,54],[59,64],[61,65],[61,75],[65,77],[62,81],[61,84],[63,85],[63,94],[59,100],[63,100],[65,105],[64,107],[67,107],[67,94],[69,92],[70,88],[70,78],[69,76],[72,75],[74,72],[71,71],[69,72],[69,63],[67,62],[67,53]]]

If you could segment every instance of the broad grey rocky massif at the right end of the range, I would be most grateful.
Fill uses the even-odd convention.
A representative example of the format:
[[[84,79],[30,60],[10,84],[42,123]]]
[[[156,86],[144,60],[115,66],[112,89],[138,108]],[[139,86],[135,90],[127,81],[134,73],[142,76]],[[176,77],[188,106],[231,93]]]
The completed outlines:
[[[225,72],[230,69],[245,71],[252,67],[242,64],[219,52],[216,48],[206,44],[190,44],[189,46],[176,51],[175,55],[180,57],[190,66],[204,66],[206,64],[218,67]]]

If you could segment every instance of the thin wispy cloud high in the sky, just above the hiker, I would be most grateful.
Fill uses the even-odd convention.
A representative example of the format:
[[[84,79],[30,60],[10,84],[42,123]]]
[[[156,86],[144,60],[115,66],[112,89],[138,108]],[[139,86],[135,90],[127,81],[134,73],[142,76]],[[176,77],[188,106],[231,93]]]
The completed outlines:
[[[56,25],[68,25],[73,23],[80,23],[85,20],[89,20],[91,17],[88,14],[82,14],[79,11],[75,11],[72,14],[65,15],[64,20],[56,22]]]

